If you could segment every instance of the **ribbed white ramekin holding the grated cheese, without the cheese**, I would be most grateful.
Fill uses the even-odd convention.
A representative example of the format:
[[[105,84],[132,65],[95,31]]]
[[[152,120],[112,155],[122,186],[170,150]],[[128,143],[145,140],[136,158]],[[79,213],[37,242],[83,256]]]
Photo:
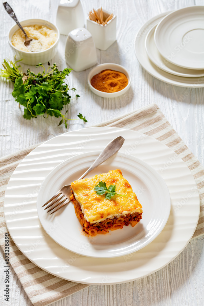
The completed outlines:
[[[16,60],[22,59],[22,63],[24,63],[24,64],[37,65],[38,63],[45,63],[45,62],[49,61],[51,58],[53,58],[54,55],[57,53],[57,46],[58,46],[59,38],[60,38],[60,33],[59,33],[58,28],[53,23],[51,23],[49,21],[46,21],[44,19],[35,19],[35,18],[20,21],[20,24],[23,27],[28,26],[28,25],[35,25],[35,24],[45,25],[45,26],[49,27],[50,29],[57,32],[57,40],[50,48],[48,48],[46,50],[43,50],[43,51],[25,52],[25,51],[18,50],[11,43],[11,38],[12,38],[14,32],[16,32],[19,29],[18,25],[15,24],[9,30],[8,41],[9,41],[9,44],[10,44],[12,50],[13,50],[14,55],[16,56]]]

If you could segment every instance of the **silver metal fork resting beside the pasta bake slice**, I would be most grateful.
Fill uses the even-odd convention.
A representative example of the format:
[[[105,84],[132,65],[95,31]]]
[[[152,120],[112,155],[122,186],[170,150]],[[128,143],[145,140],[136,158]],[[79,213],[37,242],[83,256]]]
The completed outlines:
[[[109,144],[107,144],[107,146],[105,147],[105,149],[103,149],[103,151],[100,153],[100,155],[95,160],[95,162],[79,178],[79,180],[83,179],[89,172],[94,170],[96,167],[98,167],[103,162],[105,162],[106,159],[108,159],[113,154],[115,154],[122,147],[124,141],[125,140],[124,140],[124,138],[122,136],[116,137],[115,139],[110,141]],[[49,204],[48,206],[46,206],[44,208],[44,210],[50,207],[50,209],[47,211],[47,212],[49,212],[49,211],[52,211],[56,207],[54,209],[54,211],[52,211],[50,213],[50,215],[52,215],[55,211],[57,211],[58,209],[60,209],[61,207],[65,206],[67,203],[69,203],[70,196],[72,194],[70,187],[71,187],[71,185],[65,185],[60,190],[58,190],[55,193],[55,195],[42,206],[42,207],[44,207],[45,205]]]

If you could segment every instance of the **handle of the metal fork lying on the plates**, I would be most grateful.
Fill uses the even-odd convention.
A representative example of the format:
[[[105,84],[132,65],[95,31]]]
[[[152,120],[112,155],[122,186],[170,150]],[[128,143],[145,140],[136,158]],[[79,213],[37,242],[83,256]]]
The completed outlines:
[[[95,160],[95,162],[91,165],[91,167],[88,168],[88,170],[79,178],[81,180],[84,178],[89,172],[94,170],[96,167],[101,165],[103,162],[105,162],[106,159],[109,159],[113,154],[115,154],[123,145],[124,138],[122,136],[116,137],[112,141],[107,144],[105,149],[100,153],[98,158]]]

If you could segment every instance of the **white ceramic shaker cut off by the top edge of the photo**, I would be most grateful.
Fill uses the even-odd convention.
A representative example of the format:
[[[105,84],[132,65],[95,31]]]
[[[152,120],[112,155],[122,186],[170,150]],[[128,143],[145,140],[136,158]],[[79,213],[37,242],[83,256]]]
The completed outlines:
[[[56,25],[60,34],[64,35],[84,26],[83,8],[80,0],[60,0]]]

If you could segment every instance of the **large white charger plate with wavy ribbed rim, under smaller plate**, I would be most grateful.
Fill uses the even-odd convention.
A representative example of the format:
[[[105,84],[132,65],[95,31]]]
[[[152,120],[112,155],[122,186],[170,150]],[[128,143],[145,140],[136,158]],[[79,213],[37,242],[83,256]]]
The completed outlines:
[[[102,151],[109,141],[120,135],[125,139],[121,153],[142,159],[163,177],[171,196],[169,219],[156,239],[126,256],[102,259],[72,253],[51,239],[41,226],[36,209],[41,184],[64,160],[82,152]],[[36,147],[14,170],[4,200],[6,225],[20,251],[41,269],[86,284],[123,283],[161,269],[190,241],[199,211],[195,180],[175,152],[150,136],[112,127],[68,132]],[[50,232],[55,228],[52,222]]]

